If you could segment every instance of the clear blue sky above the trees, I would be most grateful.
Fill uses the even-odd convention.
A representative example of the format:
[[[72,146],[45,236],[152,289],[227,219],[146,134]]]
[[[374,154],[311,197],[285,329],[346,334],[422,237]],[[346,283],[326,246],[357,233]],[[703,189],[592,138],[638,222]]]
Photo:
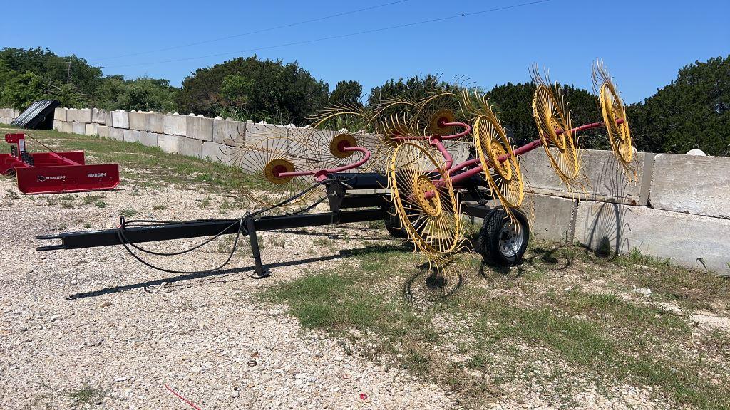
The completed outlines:
[[[532,63],[548,67],[553,80],[590,88],[591,61],[602,58],[629,103],[651,96],[686,63],[730,54],[728,0],[549,0],[477,15],[469,13],[531,0],[377,7],[393,1],[5,1],[0,47],[47,47],[103,66],[104,74],[166,78],[173,85],[199,67],[256,53],[299,61],[331,89],[339,80],[358,80],[366,93],[393,77],[435,72],[485,88],[525,82]],[[145,53],[366,7],[375,8]],[[271,47],[449,16],[459,17]],[[114,58],[133,53],[144,54]],[[220,53],[227,54],[198,58]],[[159,63],[181,58],[194,59]]]

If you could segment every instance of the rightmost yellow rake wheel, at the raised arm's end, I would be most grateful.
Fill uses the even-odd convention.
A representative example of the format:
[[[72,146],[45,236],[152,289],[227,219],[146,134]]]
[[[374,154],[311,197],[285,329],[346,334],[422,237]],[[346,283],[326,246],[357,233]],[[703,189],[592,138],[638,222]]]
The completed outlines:
[[[606,126],[608,140],[611,143],[611,150],[623,169],[630,176],[633,174],[633,177],[636,177],[635,171],[631,169],[634,147],[631,140],[629,120],[626,118],[626,107],[623,105],[616,86],[612,82],[611,76],[603,66],[603,63],[598,62],[593,65],[592,71],[593,89],[598,90],[601,114],[603,116],[603,123]],[[623,122],[617,124],[617,120]]]

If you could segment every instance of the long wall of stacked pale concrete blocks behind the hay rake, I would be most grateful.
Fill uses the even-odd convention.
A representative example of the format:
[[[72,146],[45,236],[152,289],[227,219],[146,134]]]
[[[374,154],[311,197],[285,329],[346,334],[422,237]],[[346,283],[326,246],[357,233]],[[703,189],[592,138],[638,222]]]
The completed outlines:
[[[0,120],[3,115],[14,113],[0,109]],[[53,128],[61,132],[99,134],[222,163],[237,157],[236,147],[305,132],[294,125],[177,113],[61,108],[54,118]],[[450,150],[456,160],[468,155],[463,144]],[[533,237],[619,253],[636,248],[730,275],[730,158],[637,152],[635,174],[627,174],[612,152],[586,150],[585,179],[572,190],[556,177],[544,150],[523,155],[520,163],[527,191],[523,209],[534,215]]]

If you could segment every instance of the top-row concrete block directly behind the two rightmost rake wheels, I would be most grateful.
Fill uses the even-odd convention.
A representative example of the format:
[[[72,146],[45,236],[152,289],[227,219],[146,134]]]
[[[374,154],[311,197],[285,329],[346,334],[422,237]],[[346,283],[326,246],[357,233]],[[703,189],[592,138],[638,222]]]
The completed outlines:
[[[653,155],[648,152],[634,155],[634,167],[639,175],[639,181],[630,182],[611,151],[585,150],[582,168],[587,179],[587,182],[585,180],[583,182],[585,192],[582,192],[580,187],[571,192],[560,182],[550,166],[548,155],[545,155],[545,150],[542,148],[522,155],[520,164],[528,192],[643,206],[647,204],[649,198]]]

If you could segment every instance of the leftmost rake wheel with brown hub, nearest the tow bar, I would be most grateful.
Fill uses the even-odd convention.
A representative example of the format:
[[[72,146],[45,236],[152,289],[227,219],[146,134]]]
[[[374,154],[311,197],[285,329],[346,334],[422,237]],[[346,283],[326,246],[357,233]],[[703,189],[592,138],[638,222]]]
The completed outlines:
[[[269,136],[247,144],[237,152],[234,165],[239,190],[258,207],[280,204],[315,184],[311,175],[278,176],[282,172],[309,171],[316,166],[304,156],[301,144],[283,136]],[[322,192],[320,187],[315,188],[285,206],[300,206]]]

